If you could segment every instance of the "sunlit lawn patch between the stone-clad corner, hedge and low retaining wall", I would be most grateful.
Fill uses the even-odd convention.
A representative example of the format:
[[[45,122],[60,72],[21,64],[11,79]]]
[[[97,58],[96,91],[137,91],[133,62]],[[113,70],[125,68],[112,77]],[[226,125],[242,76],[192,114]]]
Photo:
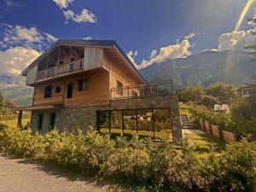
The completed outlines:
[[[195,153],[200,156],[205,156],[210,152],[221,154],[225,148],[225,143],[207,134],[185,133],[185,136],[195,144]]]

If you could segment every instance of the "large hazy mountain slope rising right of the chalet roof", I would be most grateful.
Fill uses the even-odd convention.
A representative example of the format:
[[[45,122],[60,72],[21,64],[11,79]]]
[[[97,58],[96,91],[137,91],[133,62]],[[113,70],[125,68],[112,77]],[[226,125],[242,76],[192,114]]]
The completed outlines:
[[[204,51],[187,58],[154,63],[140,70],[148,82],[172,79],[177,87],[190,84],[225,82],[244,84],[253,82],[250,76],[256,73],[256,63],[247,52]]]

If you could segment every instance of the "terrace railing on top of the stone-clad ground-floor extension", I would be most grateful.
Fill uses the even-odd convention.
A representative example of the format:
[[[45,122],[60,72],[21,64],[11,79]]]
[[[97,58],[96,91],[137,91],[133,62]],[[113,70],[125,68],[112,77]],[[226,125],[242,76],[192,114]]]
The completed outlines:
[[[146,96],[171,96],[177,94],[173,90],[172,80],[154,83],[154,84],[139,84],[111,89],[111,99],[127,99]]]

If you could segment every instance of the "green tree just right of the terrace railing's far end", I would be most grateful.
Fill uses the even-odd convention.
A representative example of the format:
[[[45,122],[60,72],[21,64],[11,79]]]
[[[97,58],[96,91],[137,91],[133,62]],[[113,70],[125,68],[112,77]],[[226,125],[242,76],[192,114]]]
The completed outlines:
[[[198,102],[203,96],[205,96],[205,90],[201,85],[189,86],[179,92],[180,102]]]

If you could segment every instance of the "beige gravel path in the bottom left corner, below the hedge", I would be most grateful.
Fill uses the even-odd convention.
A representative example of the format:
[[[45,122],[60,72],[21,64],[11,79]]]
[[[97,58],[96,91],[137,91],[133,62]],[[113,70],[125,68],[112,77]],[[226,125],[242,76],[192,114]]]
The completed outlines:
[[[0,155],[0,192],[100,192],[108,185],[73,176],[32,160],[9,160]]]

